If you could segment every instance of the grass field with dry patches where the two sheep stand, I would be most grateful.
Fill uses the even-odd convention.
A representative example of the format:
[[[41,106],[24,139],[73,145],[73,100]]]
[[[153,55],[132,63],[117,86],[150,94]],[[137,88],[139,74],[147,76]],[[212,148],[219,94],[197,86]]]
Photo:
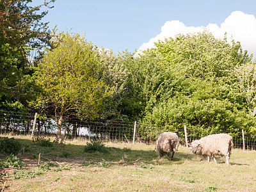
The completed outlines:
[[[104,153],[84,152],[86,141],[41,147],[17,140],[25,146],[18,155],[25,164],[0,168],[4,191],[256,191],[256,151],[234,149],[227,165],[224,157],[207,163],[182,146],[168,161],[143,143],[104,143]]]

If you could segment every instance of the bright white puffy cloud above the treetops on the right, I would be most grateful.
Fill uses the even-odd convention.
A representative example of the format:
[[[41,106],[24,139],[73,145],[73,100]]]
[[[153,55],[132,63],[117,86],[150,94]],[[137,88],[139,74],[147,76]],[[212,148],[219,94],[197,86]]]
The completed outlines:
[[[138,49],[138,52],[154,47],[154,42],[164,40],[164,38],[175,38],[179,33],[197,33],[204,29],[210,31],[216,38],[223,39],[227,32],[227,39],[231,38],[241,42],[243,50],[247,50],[249,54],[256,56],[256,19],[254,15],[248,15],[243,12],[232,12],[219,27],[217,24],[208,24],[200,27],[186,26],[179,20],[167,21],[161,27],[161,33],[156,37],[151,38],[147,43],[144,43]]]

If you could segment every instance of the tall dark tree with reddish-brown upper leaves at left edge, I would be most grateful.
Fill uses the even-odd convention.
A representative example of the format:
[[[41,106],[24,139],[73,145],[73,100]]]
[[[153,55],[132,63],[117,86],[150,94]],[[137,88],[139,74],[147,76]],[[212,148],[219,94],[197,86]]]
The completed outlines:
[[[33,98],[29,93],[34,72],[29,52],[51,45],[47,23],[40,21],[47,11],[38,12],[54,0],[35,7],[29,6],[31,2],[0,1],[0,109],[27,107],[26,101]]]

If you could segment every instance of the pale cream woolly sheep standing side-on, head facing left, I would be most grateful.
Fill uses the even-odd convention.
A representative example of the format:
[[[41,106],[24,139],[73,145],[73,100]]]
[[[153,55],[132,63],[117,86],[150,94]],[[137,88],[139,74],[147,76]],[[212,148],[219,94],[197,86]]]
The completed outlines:
[[[229,164],[231,149],[233,147],[232,136],[228,134],[211,134],[200,140],[195,140],[189,144],[191,152],[196,155],[207,156],[207,161],[210,162],[212,156],[225,156],[226,163]]]

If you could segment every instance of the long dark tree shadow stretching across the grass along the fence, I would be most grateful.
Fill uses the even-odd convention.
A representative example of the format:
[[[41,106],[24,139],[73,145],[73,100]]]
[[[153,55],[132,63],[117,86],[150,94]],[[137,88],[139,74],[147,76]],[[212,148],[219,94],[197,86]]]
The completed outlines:
[[[99,163],[101,161],[107,161],[109,164],[116,165],[128,165],[128,164],[182,164],[186,160],[195,158],[194,154],[188,152],[178,151],[175,152],[173,161],[169,161],[167,156],[159,157],[156,150],[148,149],[145,150],[145,146],[141,146],[139,149],[123,148],[120,143],[118,147],[106,147],[107,153],[99,151],[84,152],[86,142],[79,143],[79,145],[68,143],[65,147],[42,147],[38,144],[33,143],[29,139],[17,139],[22,143],[22,150],[19,153],[19,157],[22,159],[28,159],[28,161],[37,161],[40,154],[42,161],[51,162],[58,161],[60,163],[76,163],[83,166],[84,164]],[[118,144],[119,145],[119,144]],[[1,157],[0,157],[1,158]],[[34,162],[34,163],[35,163]]]

